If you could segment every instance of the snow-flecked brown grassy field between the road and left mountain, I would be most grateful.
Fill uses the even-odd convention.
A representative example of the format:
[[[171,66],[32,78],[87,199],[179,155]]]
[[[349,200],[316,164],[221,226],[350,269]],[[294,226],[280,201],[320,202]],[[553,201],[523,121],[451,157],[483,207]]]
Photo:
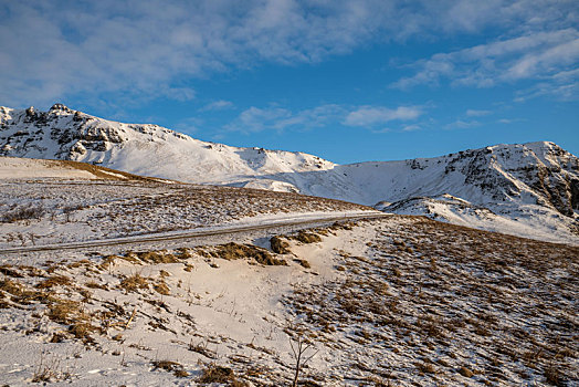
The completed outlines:
[[[360,211],[372,210],[290,192],[158,181],[80,163],[0,158],[0,249]]]

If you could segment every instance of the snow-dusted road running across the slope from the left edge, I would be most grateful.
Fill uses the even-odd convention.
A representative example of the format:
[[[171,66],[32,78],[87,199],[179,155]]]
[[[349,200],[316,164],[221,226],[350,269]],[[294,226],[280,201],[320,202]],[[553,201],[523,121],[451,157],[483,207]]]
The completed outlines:
[[[307,219],[298,219],[298,220],[296,219],[269,220],[260,224],[249,224],[249,226],[240,224],[240,226],[230,226],[230,227],[213,228],[213,229],[194,229],[190,231],[179,231],[179,232],[173,232],[173,233],[144,234],[144,236],[135,236],[135,237],[117,238],[117,239],[104,239],[104,240],[84,241],[84,242],[71,242],[71,243],[61,243],[61,244],[32,245],[32,247],[3,249],[3,250],[0,250],[0,254],[92,249],[92,248],[98,248],[98,247],[137,244],[137,243],[145,243],[145,242],[190,240],[194,238],[214,237],[214,236],[220,236],[220,234],[241,233],[241,232],[249,232],[249,231],[259,231],[259,230],[266,230],[266,229],[273,229],[273,228],[280,228],[280,227],[308,228],[308,227],[318,226],[320,223],[326,224],[326,223],[348,221],[348,220],[378,219],[378,218],[386,218],[389,215],[387,213],[370,212],[370,213],[317,217],[317,218],[307,218]]]

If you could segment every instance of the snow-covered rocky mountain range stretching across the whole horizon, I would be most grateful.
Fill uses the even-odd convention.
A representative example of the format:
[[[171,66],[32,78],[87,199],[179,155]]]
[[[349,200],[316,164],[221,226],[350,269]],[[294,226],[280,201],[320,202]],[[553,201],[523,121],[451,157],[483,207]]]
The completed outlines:
[[[122,124],[56,104],[48,112],[0,107],[0,155],[295,191],[579,243],[579,159],[547,142],[337,165],[304,153],[201,142],[157,125]]]

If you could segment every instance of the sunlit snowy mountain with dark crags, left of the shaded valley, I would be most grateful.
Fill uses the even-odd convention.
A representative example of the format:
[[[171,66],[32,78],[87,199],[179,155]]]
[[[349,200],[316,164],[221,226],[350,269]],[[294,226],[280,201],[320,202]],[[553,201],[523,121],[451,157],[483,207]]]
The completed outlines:
[[[333,168],[303,153],[206,143],[157,126],[122,124],[56,104],[48,112],[0,107],[0,155],[92,163],[137,175],[232,184],[283,172]],[[292,190],[283,182],[256,188]]]

